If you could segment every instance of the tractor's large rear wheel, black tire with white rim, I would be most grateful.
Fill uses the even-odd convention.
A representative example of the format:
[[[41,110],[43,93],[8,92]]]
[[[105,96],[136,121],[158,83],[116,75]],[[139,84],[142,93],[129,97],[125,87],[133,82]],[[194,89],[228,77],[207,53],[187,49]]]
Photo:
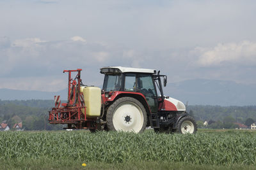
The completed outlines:
[[[147,125],[144,106],[132,97],[122,97],[109,106],[106,115],[110,131],[143,132]]]

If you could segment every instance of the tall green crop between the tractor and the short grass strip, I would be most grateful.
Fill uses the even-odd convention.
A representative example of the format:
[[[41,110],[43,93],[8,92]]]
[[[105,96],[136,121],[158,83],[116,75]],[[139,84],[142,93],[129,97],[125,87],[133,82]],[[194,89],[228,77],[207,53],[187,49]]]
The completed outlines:
[[[0,132],[0,153],[0,162],[73,159],[105,163],[170,161],[256,165],[256,133]]]

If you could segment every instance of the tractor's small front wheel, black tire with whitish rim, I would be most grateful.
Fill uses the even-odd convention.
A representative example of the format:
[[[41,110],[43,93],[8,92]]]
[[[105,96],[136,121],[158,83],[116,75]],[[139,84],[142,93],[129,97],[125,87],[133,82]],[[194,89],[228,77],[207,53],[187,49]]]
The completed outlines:
[[[180,118],[177,124],[177,132],[180,134],[195,134],[197,125],[193,117],[185,116]]]

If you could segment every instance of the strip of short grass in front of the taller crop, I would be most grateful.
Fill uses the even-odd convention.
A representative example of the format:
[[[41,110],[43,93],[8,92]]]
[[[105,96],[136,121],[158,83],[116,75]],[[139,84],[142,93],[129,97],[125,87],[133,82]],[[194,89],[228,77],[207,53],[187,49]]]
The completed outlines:
[[[4,160],[1,162],[1,169],[255,169],[255,166],[244,166],[241,164],[232,164],[228,166],[216,165],[197,165],[186,162],[159,162],[159,161],[144,161],[144,162],[123,162],[108,164],[104,162],[86,162],[86,167],[83,167],[84,162],[81,160],[52,160],[52,159],[28,159],[22,161]]]

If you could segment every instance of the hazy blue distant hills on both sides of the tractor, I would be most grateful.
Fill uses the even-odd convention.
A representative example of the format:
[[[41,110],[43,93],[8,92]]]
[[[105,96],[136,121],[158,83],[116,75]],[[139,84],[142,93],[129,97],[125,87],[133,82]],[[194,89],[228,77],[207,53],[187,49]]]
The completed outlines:
[[[67,89],[59,92],[0,89],[1,100],[52,100],[60,95],[67,100]],[[234,81],[186,80],[168,83],[164,95],[179,99],[189,105],[250,106],[256,105],[256,85],[246,85]]]

